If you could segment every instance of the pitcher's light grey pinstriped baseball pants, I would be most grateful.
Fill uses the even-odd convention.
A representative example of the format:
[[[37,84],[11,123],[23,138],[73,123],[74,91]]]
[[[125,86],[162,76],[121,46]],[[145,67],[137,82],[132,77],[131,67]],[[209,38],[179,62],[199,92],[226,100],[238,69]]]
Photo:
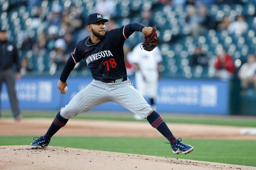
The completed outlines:
[[[69,119],[107,102],[120,104],[134,114],[144,118],[147,118],[148,114],[153,110],[131,82],[129,80],[122,82],[121,78],[116,80],[116,83],[103,83],[100,80],[92,80],[87,87],[70,100],[66,107],[60,109],[60,115],[65,119]]]

